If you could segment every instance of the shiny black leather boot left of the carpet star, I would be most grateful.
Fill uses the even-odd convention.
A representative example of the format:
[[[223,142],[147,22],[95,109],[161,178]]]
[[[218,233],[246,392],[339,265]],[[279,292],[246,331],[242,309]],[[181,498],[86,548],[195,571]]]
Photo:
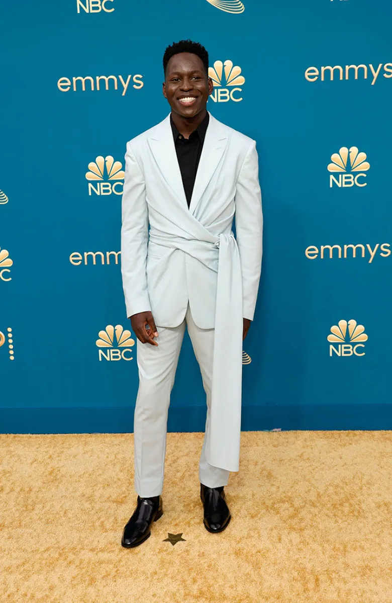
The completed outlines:
[[[163,516],[162,497],[137,497],[137,507],[126,524],[121,544],[127,549],[141,545],[151,534],[151,525]]]

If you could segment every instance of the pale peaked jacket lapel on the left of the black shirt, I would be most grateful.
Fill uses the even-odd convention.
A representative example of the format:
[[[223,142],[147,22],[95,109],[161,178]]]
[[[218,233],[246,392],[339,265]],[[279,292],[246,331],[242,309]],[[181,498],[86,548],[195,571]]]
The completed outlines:
[[[152,128],[151,134],[148,137],[148,144],[167,184],[176,197],[178,197],[181,204],[188,209],[174,146],[172,127],[170,125],[170,114],[160,124],[156,125],[155,128]]]

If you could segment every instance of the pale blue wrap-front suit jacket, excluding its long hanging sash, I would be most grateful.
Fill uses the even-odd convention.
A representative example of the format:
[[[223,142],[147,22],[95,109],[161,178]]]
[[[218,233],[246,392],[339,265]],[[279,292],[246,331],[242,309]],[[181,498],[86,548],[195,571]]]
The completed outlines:
[[[231,234],[234,215],[243,317],[253,320],[263,235],[255,141],[210,114],[188,207],[170,115],[130,140],[121,236],[127,316],[150,310],[157,326],[175,327],[189,303],[198,327],[214,328],[218,254],[213,241]]]

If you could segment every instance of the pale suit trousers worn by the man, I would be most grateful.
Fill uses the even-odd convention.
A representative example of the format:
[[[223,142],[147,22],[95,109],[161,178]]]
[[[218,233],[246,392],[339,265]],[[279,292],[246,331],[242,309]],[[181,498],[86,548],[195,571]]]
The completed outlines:
[[[137,341],[139,387],[134,415],[135,490],[142,497],[158,496],[163,489],[167,413],[185,324],[207,394],[207,419],[199,461],[199,479],[209,488],[224,486],[229,479],[227,470],[211,466],[205,458],[210,424],[214,329],[200,329],[196,326],[188,305],[185,319],[178,327],[157,327],[158,347]]]

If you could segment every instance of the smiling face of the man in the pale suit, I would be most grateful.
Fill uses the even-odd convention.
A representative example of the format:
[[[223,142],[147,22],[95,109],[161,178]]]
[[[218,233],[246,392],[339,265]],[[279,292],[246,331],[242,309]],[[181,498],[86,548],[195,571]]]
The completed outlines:
[[[172,111],[192,118],[205,109],[213,81],[207,76],[201,58],[191,52],[180,52],[167,63],[163,95]]]

